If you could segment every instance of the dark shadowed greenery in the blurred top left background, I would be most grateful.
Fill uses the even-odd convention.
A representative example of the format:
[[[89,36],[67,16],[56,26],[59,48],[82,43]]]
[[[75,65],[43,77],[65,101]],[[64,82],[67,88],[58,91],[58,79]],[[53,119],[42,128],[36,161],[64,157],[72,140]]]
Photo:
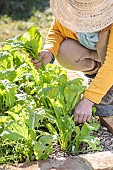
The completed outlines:
[[[49,7],[49,0],[0,0],[0,16],[13,20],[27,20],[35,11],[43,12]]]

